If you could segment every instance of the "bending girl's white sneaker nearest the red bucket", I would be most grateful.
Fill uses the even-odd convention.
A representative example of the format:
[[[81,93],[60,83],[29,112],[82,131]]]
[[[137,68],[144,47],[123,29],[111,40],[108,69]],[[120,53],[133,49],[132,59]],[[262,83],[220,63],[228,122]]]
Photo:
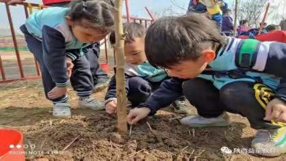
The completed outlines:
[[[70,118],[70,104],[57,103],[53,106],[53,116],[57,118]]]

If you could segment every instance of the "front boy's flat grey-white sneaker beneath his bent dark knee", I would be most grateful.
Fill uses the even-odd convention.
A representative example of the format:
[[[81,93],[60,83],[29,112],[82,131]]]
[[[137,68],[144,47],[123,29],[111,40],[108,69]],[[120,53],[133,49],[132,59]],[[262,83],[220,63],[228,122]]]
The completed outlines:
[[[203,128],[211,126],[229,126],[231,121],[227,113],[222,113],[219,117],[205,118],[200,115],[192,115],[180,120],[180,123],[184,126],[190,126],[192,128]]]

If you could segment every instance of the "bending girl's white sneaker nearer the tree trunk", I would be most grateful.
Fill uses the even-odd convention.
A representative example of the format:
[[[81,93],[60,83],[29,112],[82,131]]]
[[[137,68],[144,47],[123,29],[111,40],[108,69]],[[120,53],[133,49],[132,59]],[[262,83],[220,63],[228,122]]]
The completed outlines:
[[[79,98],[79,108],[90,108],[94,111],[99,111],[104,110],[104,104],[93,98]]]

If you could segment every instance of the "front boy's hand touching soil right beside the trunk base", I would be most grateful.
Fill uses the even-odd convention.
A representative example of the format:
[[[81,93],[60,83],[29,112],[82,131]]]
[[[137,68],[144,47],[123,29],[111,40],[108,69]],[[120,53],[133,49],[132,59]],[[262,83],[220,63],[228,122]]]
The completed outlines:
[[[136,124],[140,119],[147,117],[150,112],[151,110],[146,107],[134,108],[129,112],[127,122],[131,125]]]

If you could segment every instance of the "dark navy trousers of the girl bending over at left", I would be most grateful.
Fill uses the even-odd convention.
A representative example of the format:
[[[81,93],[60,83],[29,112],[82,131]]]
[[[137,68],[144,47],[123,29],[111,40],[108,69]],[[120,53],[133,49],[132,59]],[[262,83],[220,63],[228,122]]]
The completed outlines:
[[[51,78],[51,75],[49,73],[49,68],[47,68],[47,66],[44,64],[42,42],[34,38],[31,34],[29,34],[25,25],[21,26],[21,31],[25,35],[25,40],[27,42],[29,50],[36,57],[40,65],[40,71],[42,74],[42,84],[44,86],[44,93],[46,95],[46,98],[49,99],[47,93],[55,87],[55,83]],[[88,97],[92,93],[93,89],[92,74],[90,72],[90,65],[88,63],[88,60],[86,59],[86,57],[80,57],[79,59],[73,61],[73,64],[74,64],[73,73],[72,76],[70,77],[71,85],[73,86],[73,89],[77,91],[77,96]],[[61,96],[60,98],[49,99],[49,100],[53,101],[53,103],[66,102],[66,100],[68,100],[68,97],[64,95]]]

